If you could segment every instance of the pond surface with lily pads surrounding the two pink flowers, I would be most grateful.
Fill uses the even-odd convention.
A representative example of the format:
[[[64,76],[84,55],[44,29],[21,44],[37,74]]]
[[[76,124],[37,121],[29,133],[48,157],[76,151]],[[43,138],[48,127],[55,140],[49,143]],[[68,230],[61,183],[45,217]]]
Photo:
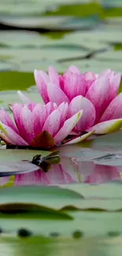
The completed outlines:
[[[1,0],[0,106],[11,114],[17,90],[43,102],[34,69],[122,72],[121,29],[121,0]],[[121,132],[51,152],[2,146],[0,170],[3,254],[122,254]]]

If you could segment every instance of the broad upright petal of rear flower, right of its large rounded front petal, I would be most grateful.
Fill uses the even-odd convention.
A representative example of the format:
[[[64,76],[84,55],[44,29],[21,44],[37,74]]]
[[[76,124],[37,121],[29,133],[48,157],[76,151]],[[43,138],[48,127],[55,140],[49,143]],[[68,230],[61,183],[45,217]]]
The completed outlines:
[[[87,95],[85,97],[93,103],[96,109],[95,122],[97,123],[105,108],[109,106],[109,103],[113,99],[113,91],[110,91],[109,80],[105,77],[95,80],[87,91]]]

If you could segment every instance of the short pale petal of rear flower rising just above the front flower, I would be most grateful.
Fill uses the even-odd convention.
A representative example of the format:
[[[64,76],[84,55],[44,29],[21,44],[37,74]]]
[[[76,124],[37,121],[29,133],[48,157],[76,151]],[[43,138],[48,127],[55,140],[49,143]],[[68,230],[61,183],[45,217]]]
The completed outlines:
[[[54,83],[48,83],[47,92],[50,98],[50,102],[57,103],[57,106],[62,102],[69,102],[65,92],[62,91],[61,88]]]

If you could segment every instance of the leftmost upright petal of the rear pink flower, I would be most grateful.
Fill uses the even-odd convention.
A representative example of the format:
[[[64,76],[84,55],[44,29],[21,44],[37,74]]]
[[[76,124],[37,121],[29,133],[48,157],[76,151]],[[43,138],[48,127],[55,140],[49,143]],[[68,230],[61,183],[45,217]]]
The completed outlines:
[[[43,72],[41,70],[38,71],[35,69],[34,76],[35,76],[35,82],[37,84],[37,87],[39,88],[39,92],[43,98],[43,101],[45,103],[49,102],[50,100],[47,95],[47,83],[49,82],[48,75],[46,74],[46,72]]]

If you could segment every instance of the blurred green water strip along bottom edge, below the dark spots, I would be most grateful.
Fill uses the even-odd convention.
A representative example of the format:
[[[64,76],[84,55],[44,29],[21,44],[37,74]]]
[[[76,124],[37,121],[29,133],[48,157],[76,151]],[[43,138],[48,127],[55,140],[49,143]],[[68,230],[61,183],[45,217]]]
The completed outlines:
[[[50,234],[51,235],[51,234]],[[53,237],[28,237],[28,238],[13,238],[2,237],[0,239],[2,252],[4,255],[13,256],[57,256],[59,254],[63,256],[76,255],[83,256],[90,254],[91,256],[118,256],[122,253],[121,237],[103,239],[103,238],[82,238],[82,239],[62,239],[60,236]]]

